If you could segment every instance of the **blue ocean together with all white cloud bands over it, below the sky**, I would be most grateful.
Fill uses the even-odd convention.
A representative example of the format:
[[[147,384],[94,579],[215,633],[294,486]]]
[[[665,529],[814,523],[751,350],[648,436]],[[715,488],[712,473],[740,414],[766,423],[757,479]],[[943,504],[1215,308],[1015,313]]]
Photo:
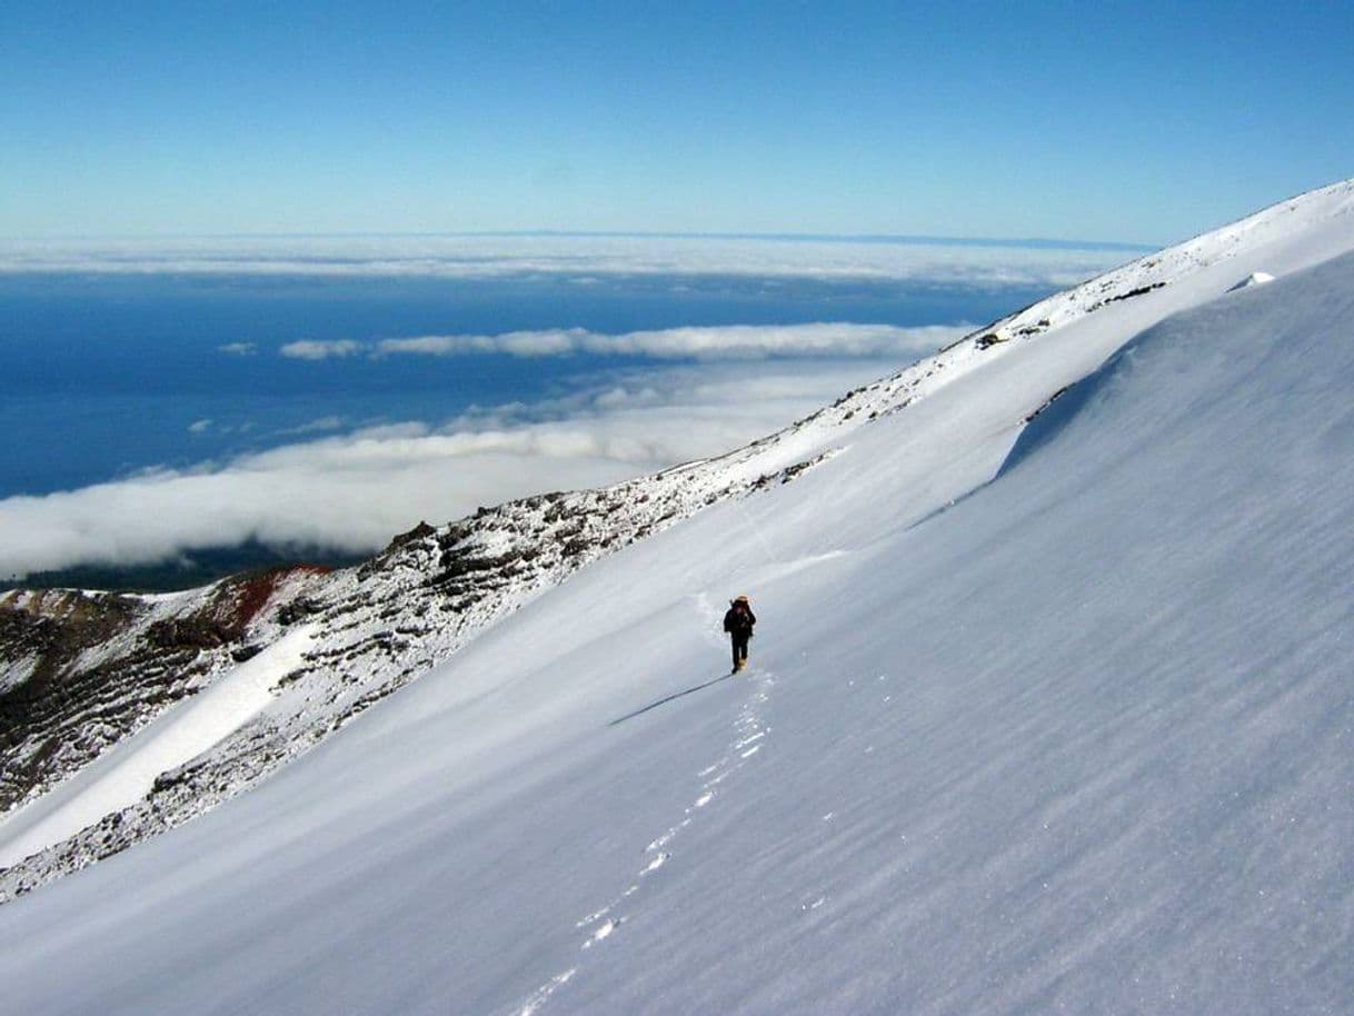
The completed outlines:
[[[0,581],[164,588],[352,559],[420,519],[719,454],[1128,256],[749,237],[0,244]]]

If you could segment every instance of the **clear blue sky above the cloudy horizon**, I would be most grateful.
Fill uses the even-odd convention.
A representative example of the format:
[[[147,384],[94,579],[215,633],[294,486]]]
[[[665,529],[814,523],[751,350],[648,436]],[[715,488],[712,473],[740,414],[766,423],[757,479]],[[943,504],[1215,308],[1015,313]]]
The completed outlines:
[[[0,236],[1164,244],[1354,175],[1354,5],[19,4]]]

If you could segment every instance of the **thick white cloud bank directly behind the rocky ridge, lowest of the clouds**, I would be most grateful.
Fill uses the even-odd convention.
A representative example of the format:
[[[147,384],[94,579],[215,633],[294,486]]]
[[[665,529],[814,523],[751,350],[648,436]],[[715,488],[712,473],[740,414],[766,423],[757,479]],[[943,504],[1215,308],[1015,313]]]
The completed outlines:
[[[635,374],[550,406],[504,406],[283,446],[223,466],[0,500],[0,573],[169,559],[248,538],[374,550],[420,519],[596,486],[773,431],[896,362],[707,364]],[[523,410],[552,419],[521,421]]]

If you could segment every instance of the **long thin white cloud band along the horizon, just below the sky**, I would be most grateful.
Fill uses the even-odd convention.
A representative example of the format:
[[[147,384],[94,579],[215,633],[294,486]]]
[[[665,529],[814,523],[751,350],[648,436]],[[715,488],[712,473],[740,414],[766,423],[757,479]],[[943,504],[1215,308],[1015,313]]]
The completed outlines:
[[[742,276],[821,282],[1080,282],[1131,249],[858,240],[645,236],[211,237],[0,241],[0,272],[187,272],[445,279]]]

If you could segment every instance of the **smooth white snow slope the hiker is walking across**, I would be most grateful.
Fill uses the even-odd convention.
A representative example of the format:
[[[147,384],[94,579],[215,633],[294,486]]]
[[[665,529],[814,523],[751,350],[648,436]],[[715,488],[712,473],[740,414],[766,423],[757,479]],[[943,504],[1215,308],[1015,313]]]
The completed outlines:
[[[0,908],[7,1007],[1347,1012],[1351,207],[1163,252],[779,436],[819,465]],[[738,592],[758,638],[722,679]]]

